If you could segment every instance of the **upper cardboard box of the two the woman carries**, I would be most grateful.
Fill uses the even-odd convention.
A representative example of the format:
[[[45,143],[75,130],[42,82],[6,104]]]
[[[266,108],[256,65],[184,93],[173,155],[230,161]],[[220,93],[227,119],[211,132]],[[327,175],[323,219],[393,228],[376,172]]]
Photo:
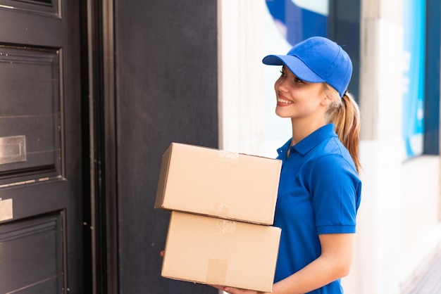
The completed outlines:
[[[273,224],[281,160],[171,143],[156,208]]]

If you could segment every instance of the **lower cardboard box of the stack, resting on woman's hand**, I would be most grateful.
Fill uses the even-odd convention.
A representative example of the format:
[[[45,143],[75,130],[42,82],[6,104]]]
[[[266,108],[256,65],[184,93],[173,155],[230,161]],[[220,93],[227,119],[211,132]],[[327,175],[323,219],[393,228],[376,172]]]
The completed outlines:
[[[171,212],[161,275],[271,292],[280,229]]]

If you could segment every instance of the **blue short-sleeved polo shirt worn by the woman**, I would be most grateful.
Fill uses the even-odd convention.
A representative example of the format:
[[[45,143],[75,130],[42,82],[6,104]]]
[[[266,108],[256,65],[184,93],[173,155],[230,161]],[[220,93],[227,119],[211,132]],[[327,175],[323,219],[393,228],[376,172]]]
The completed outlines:
[[[282,229],[275,282],[321,254],[320,234],[355,233],[361,181],[354,161],[326,124],[290,147],[278,149],[282,172],[274,226]],[[289,158],[286,154],[290,150]],[[340,280],[311,293],[343,293]]]

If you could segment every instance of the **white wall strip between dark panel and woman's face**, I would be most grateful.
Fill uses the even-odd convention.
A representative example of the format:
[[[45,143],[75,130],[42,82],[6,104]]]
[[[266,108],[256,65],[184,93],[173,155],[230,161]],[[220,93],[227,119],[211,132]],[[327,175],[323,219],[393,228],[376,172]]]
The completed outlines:
[[[275,115],[273,84],[280,68],[261,60],[290,46],[273,33],[266,10],[263,0],[218,1],[219,142],[229,151],[275,158],[290,139],[290,120]]]

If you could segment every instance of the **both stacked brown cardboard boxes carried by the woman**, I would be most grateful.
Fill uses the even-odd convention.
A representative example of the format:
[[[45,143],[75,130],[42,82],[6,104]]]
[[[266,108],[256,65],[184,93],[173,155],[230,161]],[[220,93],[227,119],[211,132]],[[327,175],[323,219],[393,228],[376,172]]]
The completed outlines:
[[[172,143],[156,208],[172,210],[162,276],[271,292],[281,161]]]

